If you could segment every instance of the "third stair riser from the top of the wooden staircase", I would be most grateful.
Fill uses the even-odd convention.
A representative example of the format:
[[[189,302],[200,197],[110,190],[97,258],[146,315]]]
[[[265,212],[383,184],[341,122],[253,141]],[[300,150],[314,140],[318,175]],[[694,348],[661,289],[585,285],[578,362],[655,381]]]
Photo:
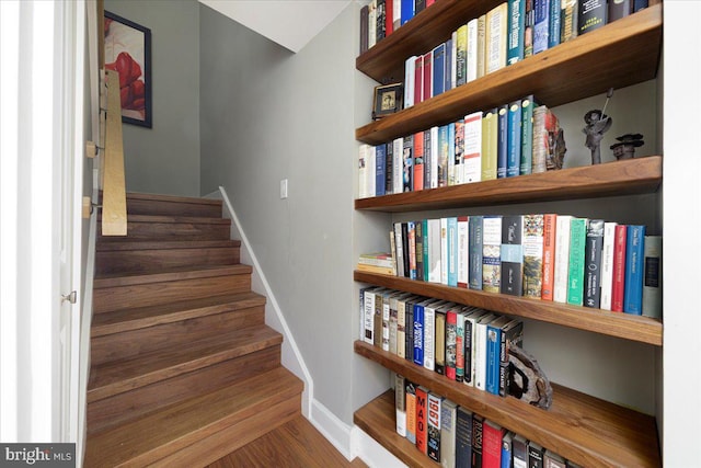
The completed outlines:
[[[95,274],[149,273],[182,266],[234,265],[241,260],[240,248],[158,249],[96,253]]]

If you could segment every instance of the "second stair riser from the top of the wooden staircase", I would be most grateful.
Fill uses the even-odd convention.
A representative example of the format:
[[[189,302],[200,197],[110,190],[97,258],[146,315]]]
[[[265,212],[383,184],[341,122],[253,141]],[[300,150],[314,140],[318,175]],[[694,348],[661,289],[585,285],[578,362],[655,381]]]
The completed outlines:
[[[227,240],[230,238],[229,222],[129,222],[127,236],[129,240]],[[101,231],[102,232],[102,231]],[[101,237],[99,242],[114,242],[124,237]]]

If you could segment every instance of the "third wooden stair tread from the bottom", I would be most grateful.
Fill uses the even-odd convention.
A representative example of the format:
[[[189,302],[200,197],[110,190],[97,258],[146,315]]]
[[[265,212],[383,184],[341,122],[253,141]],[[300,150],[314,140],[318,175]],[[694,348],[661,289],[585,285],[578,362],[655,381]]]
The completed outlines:
[[[264,306],[265,301],[265,296],[248,292],[95,313],[92,319],[91,335],[93,338],[103,336],[225,311]]]

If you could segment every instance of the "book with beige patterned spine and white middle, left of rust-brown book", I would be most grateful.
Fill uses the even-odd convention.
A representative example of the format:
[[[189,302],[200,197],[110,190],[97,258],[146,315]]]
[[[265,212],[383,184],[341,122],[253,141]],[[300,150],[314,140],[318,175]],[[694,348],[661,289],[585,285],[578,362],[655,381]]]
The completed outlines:
[[[543,289],[543,215],[524,215],[524,287],[522,295],[540,299]],[[502,246],[502,249],[504,246]],[[502,266],[504,269],[504,266]]]

